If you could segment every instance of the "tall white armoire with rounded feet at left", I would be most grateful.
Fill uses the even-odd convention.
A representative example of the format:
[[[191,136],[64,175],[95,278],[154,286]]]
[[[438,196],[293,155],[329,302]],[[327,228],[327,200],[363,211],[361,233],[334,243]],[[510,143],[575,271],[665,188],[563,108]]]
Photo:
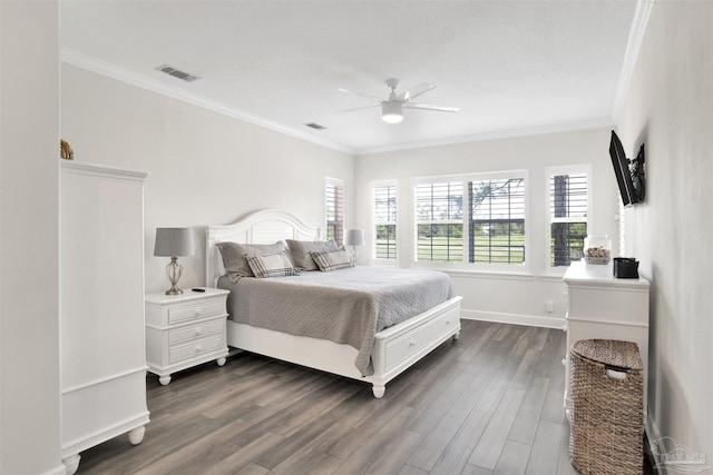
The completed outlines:
[[[147,174],[61,161],[61,455],[148,423],[144,345],[144,180]]]

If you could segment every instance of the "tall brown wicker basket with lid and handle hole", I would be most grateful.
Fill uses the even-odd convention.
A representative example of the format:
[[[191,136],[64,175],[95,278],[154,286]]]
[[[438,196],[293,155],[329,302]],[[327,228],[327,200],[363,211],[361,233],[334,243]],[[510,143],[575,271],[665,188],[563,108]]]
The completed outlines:
[[[572,465],[583,474],[643,471],[643,369],[635,343],[583,339],[570,352]]]

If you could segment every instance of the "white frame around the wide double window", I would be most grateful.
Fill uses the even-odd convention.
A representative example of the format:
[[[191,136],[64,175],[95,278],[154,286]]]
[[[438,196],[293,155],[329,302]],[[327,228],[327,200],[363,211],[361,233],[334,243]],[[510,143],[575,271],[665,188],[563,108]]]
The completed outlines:
[[[485,180],[497,180],[497,179],[510,179],[510,178],[521,178],[525,184],[525,196],[524,196],[524,216],[525,216],[525,260],[521,265],[508,265],[508,264],[479,264],[479,263],[468,263],[467,259],[469,257],[470,249],[468,248],[470,241],[470,206],[468,202],[468,184],[471,181],[485,181]],[[462,209],[462,218],[460,220],[448,220],[448,221],[439,221],[443,224],[461,224],[462,225],[462,258],[460,263],[430,263],[418,260],[418,225],[422,221],[417,220],[417,196],[416,196],[416,187],[417,185],[423,184],[434,184],[434,182],[446,182],[446,181],[460,181],[461,182],[461,192],[463,200],[463,209]],[[530,261],[531,261],[531,248],[530,248],[530,180],[529,180],[529,170],[527,169],[516,169],[516,170],[502,170],[502,171],[491,171],[491,172],[479,172],[479,174],[463,174],[463,175],[448,175],[448,176],[434,176],[434,177],[418,177],[411,179],[411,263],[414,267],[426,267],[426,268],[440,268],[443,270],[463,270],[463,271],[477,271],[477,273],[498,273],[498,274],[529,274]]]

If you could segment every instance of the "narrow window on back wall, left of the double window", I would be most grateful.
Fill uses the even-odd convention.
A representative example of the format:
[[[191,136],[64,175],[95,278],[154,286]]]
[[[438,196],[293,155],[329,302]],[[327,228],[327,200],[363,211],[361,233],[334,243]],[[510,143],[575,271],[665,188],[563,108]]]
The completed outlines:
[[[373,196],[373,258],[397,258],[397,187],[380,185],[372,188]]]

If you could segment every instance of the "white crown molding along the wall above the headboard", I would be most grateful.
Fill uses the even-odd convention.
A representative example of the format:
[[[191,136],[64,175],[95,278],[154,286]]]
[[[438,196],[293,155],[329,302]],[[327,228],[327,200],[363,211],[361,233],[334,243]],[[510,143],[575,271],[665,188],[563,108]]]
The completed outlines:
[[[97,75],[106,76],[111,79],[116,79],[117,81],[126,82],[131,86],[136,86],[141,89],[147,89],[149,91],[170,97],[173,99],[177,99],[193,106],[202,107],[204,109],[212,110],[214,112],[222,113],[224,116],[233,117],[235,119],[244,120],[250,123],[254,123],[261,127],[265,127],[267,129],[274,130],[276,132],[285,133],[287,136],[305,140],[322,147],[331,148],[336,151],[341,151],[349,155],[354,155],[354,150],[344,147],[339,144],[334,144],[329,140],[321,140],[302,131],[282,126],[280,123],[272,122],[270,120],[262,119],[260,117],[252,116],[243,110],[228,107],[225,103],[208,99],[204,96],[196,95],[193,92],[188,92],[184,89],[169,86],[157,81],[155,79],[148,78],[143,75],[138,75],[136,72],[129,71],[128,69],[119,68],[109,62],[102,61],[95,57],[80,53],[78,51],[62,48],[60,53],[60,59],[62,62],[68,65],[76,66],[77,68],[86,69],[88,71],[96,72]]]

